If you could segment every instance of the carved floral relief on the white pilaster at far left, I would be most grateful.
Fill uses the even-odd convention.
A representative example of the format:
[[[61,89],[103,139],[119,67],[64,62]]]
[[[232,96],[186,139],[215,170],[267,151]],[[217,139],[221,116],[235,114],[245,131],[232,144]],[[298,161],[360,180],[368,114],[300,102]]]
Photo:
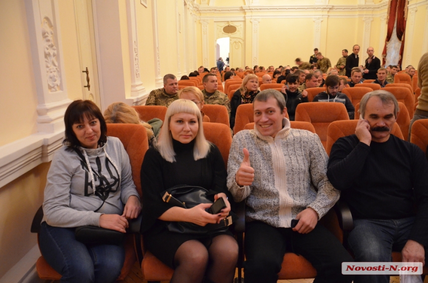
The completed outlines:
[[[47,17],[42,20],[42,37],[48,88],[50,93],[54,93],[60,91],[61,74],[56,59],[53,25]]]

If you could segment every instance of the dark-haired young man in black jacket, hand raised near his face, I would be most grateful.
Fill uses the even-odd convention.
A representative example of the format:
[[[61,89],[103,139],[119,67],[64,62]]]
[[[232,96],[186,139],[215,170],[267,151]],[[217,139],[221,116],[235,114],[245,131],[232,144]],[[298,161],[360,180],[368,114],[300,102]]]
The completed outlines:
[[[281,93],[285,98],[289,120],[294,121],[297,105],[302,102],[309,102],[308,93],[301,94],[299,92],[299,77],[297,75],[288,75],[286,81],[287,84],[282,87]]]

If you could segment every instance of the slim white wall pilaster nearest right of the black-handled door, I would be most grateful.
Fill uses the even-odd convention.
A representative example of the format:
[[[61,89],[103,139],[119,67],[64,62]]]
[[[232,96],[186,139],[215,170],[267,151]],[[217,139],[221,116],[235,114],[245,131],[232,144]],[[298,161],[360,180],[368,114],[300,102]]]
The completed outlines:
[[[141,97],[145,88],[141,82],[140,60],[138,56],[138,32],[135,0],[126,0],[126,15],[128,19],[129,65],[131,69],[131,97]],[[138,103],[137,103],[138,104]]]

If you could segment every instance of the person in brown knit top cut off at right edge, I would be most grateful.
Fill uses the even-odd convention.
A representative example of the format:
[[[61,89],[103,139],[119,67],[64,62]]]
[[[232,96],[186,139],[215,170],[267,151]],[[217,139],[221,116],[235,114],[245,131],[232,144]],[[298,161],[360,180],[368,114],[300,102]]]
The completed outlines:
[[[418,97],[415,115],[413,115],[409,126],[409,140],[412,125],[416,120],[428,119],[428,52],[422,55],[418,66],[418,87],[421,95]]]

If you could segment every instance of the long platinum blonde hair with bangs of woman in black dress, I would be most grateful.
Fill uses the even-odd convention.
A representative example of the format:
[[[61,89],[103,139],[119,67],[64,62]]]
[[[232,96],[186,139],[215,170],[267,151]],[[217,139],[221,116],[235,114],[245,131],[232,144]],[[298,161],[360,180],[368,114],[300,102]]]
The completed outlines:
[[[172,144],[172,135],[169,129],[169,124],[171,122],[171,117],[177,113],[189,113],[198,117],[198,133],[195,137],[195,145],[193,148],[193,158],[196,160],[207,157],[208,152],[210,151],[211,144],[205,139],[204,128],[202,126],[202,114],[198,106],[187,99],[177,99],[172,102],[166,111],[165,122],[162,126],[159,140],[156,145],[161,156],[168,162],[175,162],[175,152]]]

